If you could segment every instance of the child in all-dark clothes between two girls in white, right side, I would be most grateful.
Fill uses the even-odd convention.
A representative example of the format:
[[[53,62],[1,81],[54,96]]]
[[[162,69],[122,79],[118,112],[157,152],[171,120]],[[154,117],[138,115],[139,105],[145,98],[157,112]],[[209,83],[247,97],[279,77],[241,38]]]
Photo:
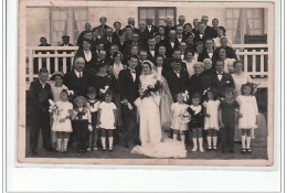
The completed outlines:
[[[234,94],[234,88],[226,88],[225,98],[220,105],[221,151],[223,153],[226,151],[234,152],[235,119],[238,108]]]

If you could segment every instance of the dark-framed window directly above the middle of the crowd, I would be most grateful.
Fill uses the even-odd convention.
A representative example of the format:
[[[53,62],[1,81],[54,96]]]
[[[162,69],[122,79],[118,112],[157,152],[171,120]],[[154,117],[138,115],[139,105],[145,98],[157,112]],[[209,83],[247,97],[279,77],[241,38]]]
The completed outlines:
[[[172,19],[172,25],[176,24],[177,11],[176,8],[139,8],[138,20],[146,20],[146,18],[152,18],[155,25],[164,25],[167,18]]]

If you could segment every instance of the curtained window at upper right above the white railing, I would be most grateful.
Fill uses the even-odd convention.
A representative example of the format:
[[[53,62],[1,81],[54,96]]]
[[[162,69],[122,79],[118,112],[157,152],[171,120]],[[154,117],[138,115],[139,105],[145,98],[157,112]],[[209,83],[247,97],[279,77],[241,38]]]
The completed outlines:
[[[235,44],[244,43],[244,34],[262,35],[264,33],[264,9],[226,9],[226,35]]]

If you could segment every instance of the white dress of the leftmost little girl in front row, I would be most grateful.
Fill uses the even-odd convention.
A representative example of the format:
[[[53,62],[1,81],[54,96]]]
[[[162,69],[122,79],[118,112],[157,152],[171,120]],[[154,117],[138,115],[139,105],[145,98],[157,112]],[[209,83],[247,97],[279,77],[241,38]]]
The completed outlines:
[[[68,101],[56,101],[57,110],[53,112],[53,126],[52,131],[72,132],[71,119],[60,122],[61,119],[68,116],[68,110],[73,110],[73,105]]]

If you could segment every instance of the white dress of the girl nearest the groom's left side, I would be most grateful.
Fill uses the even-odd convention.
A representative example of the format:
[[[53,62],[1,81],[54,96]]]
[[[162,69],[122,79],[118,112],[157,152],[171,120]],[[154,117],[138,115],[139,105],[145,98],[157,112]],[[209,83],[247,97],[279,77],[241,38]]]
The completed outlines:
[[[115,127],[115,114],[114,110],[117,109],[114,103],[103,101],[99,104],[98,109],[100,109],[100,125],[103,129],[116,129]]]

